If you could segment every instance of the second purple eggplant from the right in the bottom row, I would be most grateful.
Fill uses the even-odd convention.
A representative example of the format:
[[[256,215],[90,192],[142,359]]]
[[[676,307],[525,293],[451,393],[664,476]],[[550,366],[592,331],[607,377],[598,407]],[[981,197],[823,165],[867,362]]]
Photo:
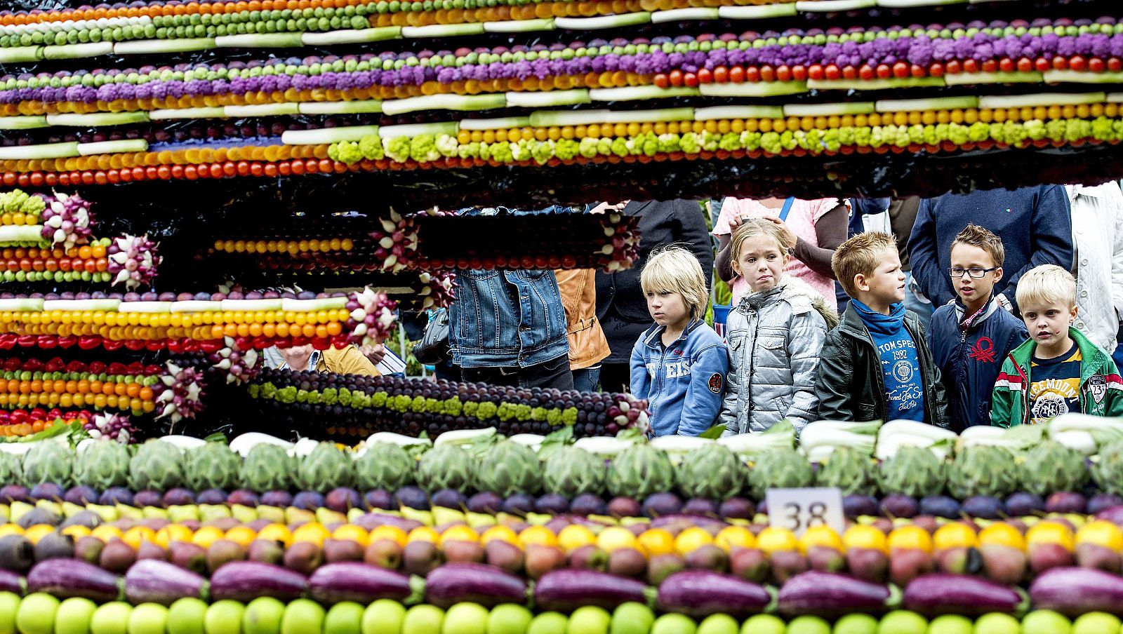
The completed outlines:
[[[905,586],[904,607],[924,616],[959,614],[968,618],[988,612],[1016,613],[1026,607],[1025,594],[969,575],[933,572]]]

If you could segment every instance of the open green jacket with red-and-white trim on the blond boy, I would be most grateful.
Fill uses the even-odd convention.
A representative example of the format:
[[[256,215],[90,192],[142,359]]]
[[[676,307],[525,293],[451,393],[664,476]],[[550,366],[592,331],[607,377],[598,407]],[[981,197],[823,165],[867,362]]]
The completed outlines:
[[[1115,361],[1101,350],[1080,331],[1069,327],[1071,337],[1080,350],[1080,413],[1094,416],[1123,415],[1123,380],[1120,379]],[[1029,339],[1002,364],[998,380],[994,385],[990,422],[1001,428],[1023,425],[1029,420],[1030,361],[1037,349],[1037,341]]]

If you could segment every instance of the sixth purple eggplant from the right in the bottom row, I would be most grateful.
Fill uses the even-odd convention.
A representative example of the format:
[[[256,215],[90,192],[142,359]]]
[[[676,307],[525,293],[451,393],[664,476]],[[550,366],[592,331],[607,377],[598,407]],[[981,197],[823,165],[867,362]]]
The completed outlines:
[[[495,607],[526,603],[527,584],[486,563],[446,563],[426,576],[424,596],[428,603],[442,608],[462,601]]]

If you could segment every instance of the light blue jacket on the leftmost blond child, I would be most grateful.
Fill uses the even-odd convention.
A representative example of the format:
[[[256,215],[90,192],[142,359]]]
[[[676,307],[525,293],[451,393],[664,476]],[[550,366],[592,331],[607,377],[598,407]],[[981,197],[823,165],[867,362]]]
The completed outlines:
[[[652,324],[631,353],[631,390],[646,398],[655,435],[699,435],[721,410],[729,359],[725,343],[704,321],[694,320],[664,347],[665,327]]]

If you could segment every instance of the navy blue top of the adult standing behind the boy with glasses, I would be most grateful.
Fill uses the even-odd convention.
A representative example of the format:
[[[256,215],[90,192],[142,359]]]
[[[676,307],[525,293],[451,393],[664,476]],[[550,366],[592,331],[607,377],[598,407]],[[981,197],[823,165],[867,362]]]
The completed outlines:
[[[1062,185],[925,199],[920,203],[909,237],[909,259],[921,293],[935,306],[956,297],[948,276],[951,242],[969,223],[985,227],[1002,238],[1006,261],[994,292],[1005,295],[1012,304],[1016,305],[1017,281],[1029,269],[1042,264],[1072,268],[1072,215]]]

